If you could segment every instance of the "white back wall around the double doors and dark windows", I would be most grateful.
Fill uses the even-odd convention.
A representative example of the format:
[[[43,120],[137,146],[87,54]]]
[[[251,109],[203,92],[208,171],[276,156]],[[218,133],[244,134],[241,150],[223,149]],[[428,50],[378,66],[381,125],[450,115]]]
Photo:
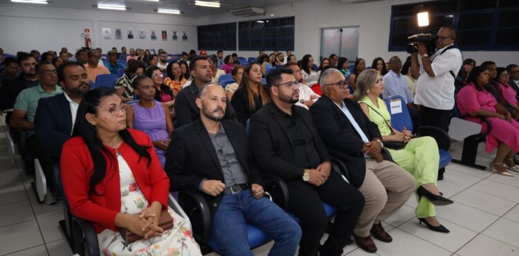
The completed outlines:
[[[199,24],[244,21],[275,17],[295,17],[295,56],[298,60],[304,54],[313,55],[318,60],[320,53],[320,28],[359,26],[358,55],[370,65],[375,57],[388,60],[397,55],[405,60],[405,52],[389,52],[391,6],[401,3],[412,3],[422,0],[386,0],[374,3],[343,3],[338,0],[307,1],[266,8],[266,16],[235,17],[230,14],[201,17]],[[285,49],[279,49],[284,51]],[[257,57],[257,51],[239,51],[244,57]],[[472,51],[464,52],[464,57],[471,57],[477,63],[493,60],[499,66],[519,63],[519,53],[509,51]]]

